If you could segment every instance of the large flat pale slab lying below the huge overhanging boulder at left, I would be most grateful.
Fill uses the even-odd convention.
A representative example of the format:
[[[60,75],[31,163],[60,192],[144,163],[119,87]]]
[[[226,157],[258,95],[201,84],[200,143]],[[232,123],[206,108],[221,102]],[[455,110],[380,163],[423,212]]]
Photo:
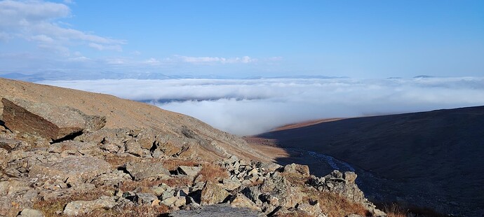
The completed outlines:
[[[111,165],[104,160],[87,155],[73,155],[54,162],[34,165],[29,172],[29,179],[34,182],[61,180],[75,185],[110,171]]]

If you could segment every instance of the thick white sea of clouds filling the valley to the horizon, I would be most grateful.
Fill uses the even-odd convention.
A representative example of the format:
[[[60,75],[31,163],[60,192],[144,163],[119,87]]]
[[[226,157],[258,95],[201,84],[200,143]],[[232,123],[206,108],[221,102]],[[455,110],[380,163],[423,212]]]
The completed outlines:
[[[320,118],[484,105],[484,78],[51,80],[156,104],[238,135]]]

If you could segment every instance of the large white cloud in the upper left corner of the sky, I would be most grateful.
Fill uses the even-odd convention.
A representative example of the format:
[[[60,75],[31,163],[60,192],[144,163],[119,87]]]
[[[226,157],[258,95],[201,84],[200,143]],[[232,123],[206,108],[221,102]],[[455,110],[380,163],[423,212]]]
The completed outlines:
[[[72,1],[70,1],[72,3]],[[55,20],[69,18],[71,11],[63,3],[46,1],[0,1],[0,32],[35,41],[42,48],[69,50],[72,43],[81,43],[98,50],[121,51],[125,41],[89,34],[77,29],[60,27]],[[6,40],[3,40],[6,41]],[[62,49],[59,49],[62,47]]]

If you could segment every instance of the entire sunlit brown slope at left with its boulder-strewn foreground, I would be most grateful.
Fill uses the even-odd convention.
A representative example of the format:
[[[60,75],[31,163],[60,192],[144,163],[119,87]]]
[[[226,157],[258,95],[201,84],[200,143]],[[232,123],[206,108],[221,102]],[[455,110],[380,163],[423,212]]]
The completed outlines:
[[[102,94],[0,86],[0,216],[386,216],[354,172],[316,177],[264,161],[194,118]]]

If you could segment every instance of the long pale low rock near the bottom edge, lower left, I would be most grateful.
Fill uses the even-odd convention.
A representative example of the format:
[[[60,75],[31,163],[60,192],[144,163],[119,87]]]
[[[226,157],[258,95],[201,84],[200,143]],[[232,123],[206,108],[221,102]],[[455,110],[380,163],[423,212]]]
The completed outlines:
[[[98,200],[84,201],[78,200],[69,202],[62,214],[66,216],[79,216],[88,214],[95,209],[111,209],[116,206],[114,197],[101,196]]]

